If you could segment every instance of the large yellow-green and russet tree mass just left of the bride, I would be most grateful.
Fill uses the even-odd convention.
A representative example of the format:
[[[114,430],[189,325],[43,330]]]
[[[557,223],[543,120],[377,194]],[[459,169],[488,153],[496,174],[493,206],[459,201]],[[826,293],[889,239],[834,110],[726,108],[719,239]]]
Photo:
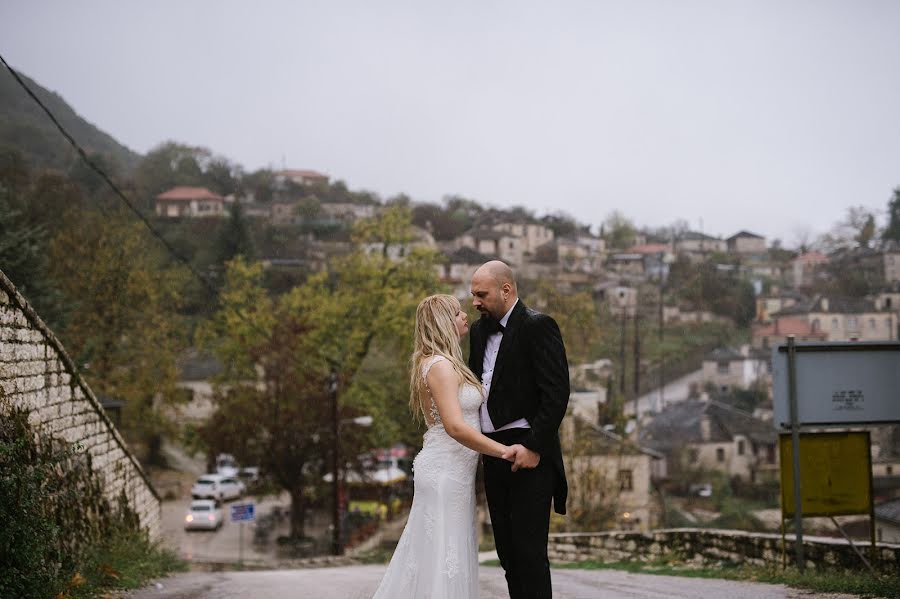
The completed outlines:
[[[341,418],[372,415],[373,439],[397,441],[397,423],[409,422],[412,324],[418,302],[438,287],[435,256],[413,249],[394,260],[378,248],[410,239],[409,212],[386,210],[357,225],[353,253],[276,298],[263,288],[258,265],[235,260],[222,308],[202,329],[203,344],[226,365],[216,414],[203,431],[207,446],[258,462],[290,494],[293,537],[304,536],[306,511],[329,469],[332,372]],[[345,430],[341,454],[355,456],[365,443],[359,431]]]

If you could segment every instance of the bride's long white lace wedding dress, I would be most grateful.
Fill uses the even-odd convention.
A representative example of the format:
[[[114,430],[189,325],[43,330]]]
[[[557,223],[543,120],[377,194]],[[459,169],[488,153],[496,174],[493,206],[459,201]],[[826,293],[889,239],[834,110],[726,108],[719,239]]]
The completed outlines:
[[[422,376],[443,356],[426,362]],[[478,452],[455,441],[434,399],[422,451],[413,461],[409,520],[373,599],[476,599],[475,470]],[[463,418],[480,430],[481,390],[460,385]]]

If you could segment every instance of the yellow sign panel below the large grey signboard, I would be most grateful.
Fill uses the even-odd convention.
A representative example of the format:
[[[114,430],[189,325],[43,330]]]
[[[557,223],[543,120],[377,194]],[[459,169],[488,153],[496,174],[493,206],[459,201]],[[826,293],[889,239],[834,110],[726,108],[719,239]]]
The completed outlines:
[[[778,439],[781,510],[794,515],[794,469],[790,433]],[[804,516],[869,514],[872,462],[869,433],[801,433],[800,496]]]

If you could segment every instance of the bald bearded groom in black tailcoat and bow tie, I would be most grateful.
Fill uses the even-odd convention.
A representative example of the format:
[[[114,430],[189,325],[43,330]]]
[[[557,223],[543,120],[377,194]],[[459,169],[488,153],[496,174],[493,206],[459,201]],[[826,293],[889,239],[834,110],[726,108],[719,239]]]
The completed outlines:
[[[481,318],[469,334],[469,368],[487,401],[481,428],[517,445],[516,461],[484,456],[484,487],[494,542],[511,599],[551,597],[547,535],[550,503],[566,513],[559,424],[569,402],[566,349],[556,322],[525,307],[512,270],[500,261],[472,276]]]

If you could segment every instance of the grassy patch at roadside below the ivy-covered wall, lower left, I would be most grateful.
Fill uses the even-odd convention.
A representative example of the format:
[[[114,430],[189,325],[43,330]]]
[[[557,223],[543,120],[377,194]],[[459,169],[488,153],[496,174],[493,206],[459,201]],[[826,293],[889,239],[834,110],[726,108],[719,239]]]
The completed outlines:
[[[136,589],[187,563],[143,533],[119,531],[93,547],[69,580],[64,597],[96,597],[103,591]]]

